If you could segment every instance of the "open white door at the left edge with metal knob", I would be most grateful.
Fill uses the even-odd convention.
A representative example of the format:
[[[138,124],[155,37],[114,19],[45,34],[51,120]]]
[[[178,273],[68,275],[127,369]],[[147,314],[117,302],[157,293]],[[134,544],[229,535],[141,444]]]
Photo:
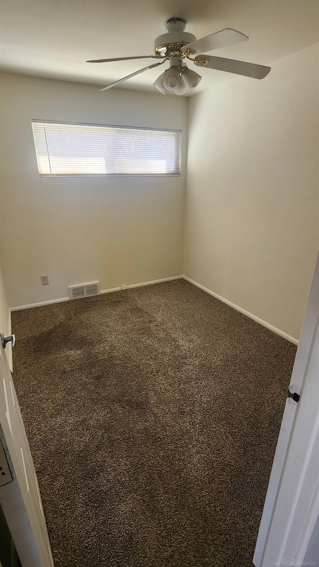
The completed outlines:
[[[53,567],[35,467],[2,341],[0,467],[0,505],[22,567]]]

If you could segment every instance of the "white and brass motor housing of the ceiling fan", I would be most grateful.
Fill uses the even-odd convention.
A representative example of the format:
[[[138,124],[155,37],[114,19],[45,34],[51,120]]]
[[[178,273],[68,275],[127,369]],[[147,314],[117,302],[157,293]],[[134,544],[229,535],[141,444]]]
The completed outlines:
[[[193,33],[184,32],[186,23],[179,18],[171,18],[167,21],[166,31],[154,42],[155,54],[165,56],[172,51],[180,51],[183,45],[197,40]]]

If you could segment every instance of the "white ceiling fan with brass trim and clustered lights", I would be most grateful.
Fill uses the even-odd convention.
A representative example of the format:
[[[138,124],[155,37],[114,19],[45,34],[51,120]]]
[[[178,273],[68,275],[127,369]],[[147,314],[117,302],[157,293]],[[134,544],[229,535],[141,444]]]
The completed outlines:
[[[201,81],[201,75],[189,69],[185,59],[192,61],[198,67],[207,67],[208,69],[218,69],[219,71],[227,71],[245,77],[254,79],[263,79],[270,71],[270,67],[263,65],[255,65],[246,63],[245,61],[236,61],[234,59],[225,59],[223,57],[214,57],[205,55],[214,49],[233,45],[240,41],[248,40],[244,33],[237,32],[236,29],[226,28],[219,32],[212,33],[209,36],[196,39],[193,33],[185,32],[186,22],[181,18],[171,18],[167,20],[166,32],[155,40],[155,55],[139,56],[139,57],[116,57],[113,59],[95,59],[87,61],[87,63],[105,63],[109,61],[127,61],[131,59],[161,59],[159,63],[143,67],[135,73],[131,73],[114,83],[108,84],[106,87],[100,88],[105,91],[108,88],[115,87],[117,84],[127,81],[131,77],[139,75],[153,69],[159,65],[163,65],[165,61],[169,62],[169,68],[156,79],[154,86],[158,88],[164,95],[168,91],[175,91],[177,95],[184,95],[186,92],[193,91]]]

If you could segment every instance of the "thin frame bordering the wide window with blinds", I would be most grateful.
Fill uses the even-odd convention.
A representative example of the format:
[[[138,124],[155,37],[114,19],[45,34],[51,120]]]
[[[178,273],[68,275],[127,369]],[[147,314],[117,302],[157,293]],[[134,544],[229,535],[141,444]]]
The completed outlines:
[[[178,133],[180,135],[179,137],[179,157],[178,157],[178,162],[177,162],[177,167],[178,167],[178,172],[177,173],[119,173],[119,174],[114,174],[114,173],[110,173],[110,174],[41,174],[40,170],[39,170],[39,162],[38,162],[38,155],[37,155],[37,148],[36,148],[36,140],[35,140],[35,133],[33,132],[33,126],[32,124],[36,122],[38,124],[61,124],[63,125],[71,125],[71,126],[96,126],[99,128],[118,128],[118,129],[122,129],[122,130],[149,130],[150,132],[168,132],[168,133]],[[37,159],[37,168],[38,168],[38,173],[41,179],[71,179],[72,177],[78,177],[78,178],[85,178],[85,177],[180,177],[181,176],[181,165],[182,165],[182,150],[181,150],[181,145],[182,145],[182,130],[178,130],[178,129],[168,129],[168,128],[150,128],[150,127],[146,127],[146,126],[127,126],[127,125],[115,125],[115,124],[95,124],[93,122],[70,122],[70,121],[61,121],[61,120],[39,120],[39,119],[31,119],[31,128],[32,128],[32,135],[33,135],[33,142],[35,145],[35,154],[36,154],[36,159]],[[49,157],[49,150],[48,150],[48,146],[47,146],[47,151],[48,151],[48,157]]]

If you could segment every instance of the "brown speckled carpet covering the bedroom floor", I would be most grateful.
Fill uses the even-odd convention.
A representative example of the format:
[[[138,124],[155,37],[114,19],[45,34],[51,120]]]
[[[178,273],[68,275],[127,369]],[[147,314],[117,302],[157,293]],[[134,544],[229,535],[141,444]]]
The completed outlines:
[[[251,567],[296,347],[184,280],[12,313],[56,567]]]

